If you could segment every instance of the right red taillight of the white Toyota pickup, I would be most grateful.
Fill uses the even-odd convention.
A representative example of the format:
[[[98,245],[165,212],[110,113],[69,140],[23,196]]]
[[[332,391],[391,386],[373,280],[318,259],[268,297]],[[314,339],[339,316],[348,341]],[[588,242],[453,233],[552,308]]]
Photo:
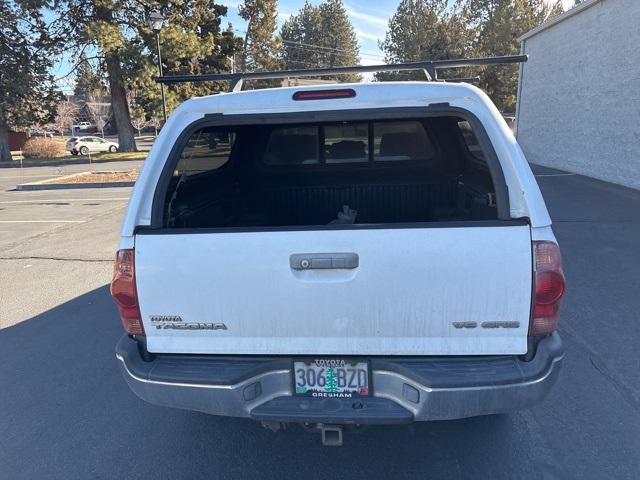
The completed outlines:
[[[556,243],[539,240],[533,242],[533,255],[536,272],[529,334],[548,335],[558,327],[560,319],[560,300],[565,289],[562,257]]]

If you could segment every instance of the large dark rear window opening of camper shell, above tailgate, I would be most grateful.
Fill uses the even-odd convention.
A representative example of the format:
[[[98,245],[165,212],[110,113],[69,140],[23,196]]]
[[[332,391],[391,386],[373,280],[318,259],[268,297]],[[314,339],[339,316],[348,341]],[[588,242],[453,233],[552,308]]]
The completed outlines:
[[[507,197],[500,190],[502,172],[496,188],[473,130],[482,156],[470,151],[469,132],[460,125],[465,121],[441,114],[202,125],[182,140],[154,212],[161,205],[161,227],[169,229],[368,228],[505,218],[499,214]]]

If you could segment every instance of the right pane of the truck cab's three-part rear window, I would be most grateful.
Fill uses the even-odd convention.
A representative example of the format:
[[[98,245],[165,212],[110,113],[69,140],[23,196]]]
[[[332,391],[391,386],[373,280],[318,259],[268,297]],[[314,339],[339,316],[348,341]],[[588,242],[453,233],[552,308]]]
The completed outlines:
[[[424,160],[435,153],[421,122],[399,121],[373,124],[375,161]]]

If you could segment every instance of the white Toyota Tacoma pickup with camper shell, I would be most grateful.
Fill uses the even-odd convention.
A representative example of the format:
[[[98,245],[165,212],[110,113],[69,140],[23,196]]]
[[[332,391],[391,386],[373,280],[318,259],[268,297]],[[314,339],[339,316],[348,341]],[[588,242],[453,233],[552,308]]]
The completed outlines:
[[[273,428],[507,412],[563,358],[551,220],[479,89],[276,88],[174,111],[111,285],[142,399]]]

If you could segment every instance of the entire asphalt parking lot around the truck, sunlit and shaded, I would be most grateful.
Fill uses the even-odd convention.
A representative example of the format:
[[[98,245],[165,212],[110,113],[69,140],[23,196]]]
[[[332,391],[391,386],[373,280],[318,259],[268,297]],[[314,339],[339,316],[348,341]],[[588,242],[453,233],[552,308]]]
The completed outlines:
[[[130,189],[16,192],[17,170],[0,169],[0,478],[638,478],[640,192],[536,172],[568,279],[548,399],[369,428],[336,449],[297,427],[138,400],[114,358],[106,286]]]

